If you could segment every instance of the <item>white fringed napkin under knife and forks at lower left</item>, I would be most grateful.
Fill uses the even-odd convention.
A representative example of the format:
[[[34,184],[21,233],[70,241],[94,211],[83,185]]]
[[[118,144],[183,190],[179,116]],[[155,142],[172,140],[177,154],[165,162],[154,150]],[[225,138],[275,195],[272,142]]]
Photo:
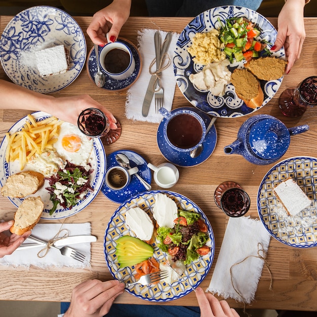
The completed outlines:
[[[38,239],[48,241],[52,239],[60,229],[67,229],[69,236],[80,234],[91,234],[91,225],[86,223],[38,223],[32,229],[32,235]],[[64,231],[59,236],[64,235]],[[31,241],[25,241],[23,244],[33,243]],[[59,247],[61,248],[61,247]],[[6,255],[0,259],[0,264],[10,266],[23,266],[29,267],[31,265],[41,268],[47,268],[50,266],[62,267],[68,266],[72,268],[86,268],[90,267],[90,243],[78,243],[71,245],[70,248],[84,254],[86,259],[84,262],[77,261],[68,256],[64,256],[60,251],[51,248],[47,255],[43,258],[39,258],[37,253],[43,249],[43,247],[15,251],[11,255]]]

